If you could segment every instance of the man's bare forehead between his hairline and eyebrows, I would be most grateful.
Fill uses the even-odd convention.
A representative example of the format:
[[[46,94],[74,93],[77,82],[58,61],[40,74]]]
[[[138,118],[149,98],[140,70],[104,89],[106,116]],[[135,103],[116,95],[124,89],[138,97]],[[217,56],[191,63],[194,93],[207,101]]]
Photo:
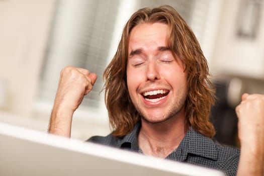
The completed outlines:
[[[167,28],[163,23],[143,23],[135,26],[130,33],[128,50],[166,46]]]

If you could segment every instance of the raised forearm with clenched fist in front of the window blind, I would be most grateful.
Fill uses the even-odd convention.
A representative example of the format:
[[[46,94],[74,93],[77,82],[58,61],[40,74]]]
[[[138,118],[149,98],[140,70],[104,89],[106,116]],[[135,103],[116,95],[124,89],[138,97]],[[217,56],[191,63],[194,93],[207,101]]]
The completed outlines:
[[[73,113],[83,97],[92,91],[96,79],[97,74],[90,74],[89,70],[83,68],[67,66],[61,70],[49,133],[70,137]]]

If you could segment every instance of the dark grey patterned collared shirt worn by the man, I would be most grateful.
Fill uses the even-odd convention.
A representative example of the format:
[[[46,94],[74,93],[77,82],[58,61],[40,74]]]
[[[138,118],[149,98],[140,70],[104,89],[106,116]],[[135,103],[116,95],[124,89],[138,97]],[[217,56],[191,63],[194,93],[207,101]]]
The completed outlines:
[[[142,152],[137,140],[140,127],[141,123],[137,123],[133,131],[122,138],[109,134],[106,137],[93,136],[87,141]],[[179,147],[172,151],[166,159],[219,169],[226,175],[236,175],[239,154],[239,149],[223,146],[191,127]]]

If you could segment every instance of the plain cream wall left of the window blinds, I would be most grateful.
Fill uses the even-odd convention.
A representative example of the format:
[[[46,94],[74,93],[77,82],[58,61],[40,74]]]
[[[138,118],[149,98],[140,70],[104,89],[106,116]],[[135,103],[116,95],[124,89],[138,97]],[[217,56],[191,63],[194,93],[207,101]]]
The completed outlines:
[[[53,14],[54,0],[0,1],[2,110],[29,117]]]

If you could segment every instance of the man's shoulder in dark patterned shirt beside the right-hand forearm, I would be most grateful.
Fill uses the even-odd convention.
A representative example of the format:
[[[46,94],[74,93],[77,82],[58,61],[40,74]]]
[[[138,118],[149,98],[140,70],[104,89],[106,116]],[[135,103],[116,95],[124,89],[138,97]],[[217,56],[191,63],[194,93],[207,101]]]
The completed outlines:
[[[206,137],[194,129],[190,129],[187,136],[189,141],[188,152],[192,153],[192,163],[222,170],[226,175],[235,175],[240,150],[225,146],[216,140]]]

